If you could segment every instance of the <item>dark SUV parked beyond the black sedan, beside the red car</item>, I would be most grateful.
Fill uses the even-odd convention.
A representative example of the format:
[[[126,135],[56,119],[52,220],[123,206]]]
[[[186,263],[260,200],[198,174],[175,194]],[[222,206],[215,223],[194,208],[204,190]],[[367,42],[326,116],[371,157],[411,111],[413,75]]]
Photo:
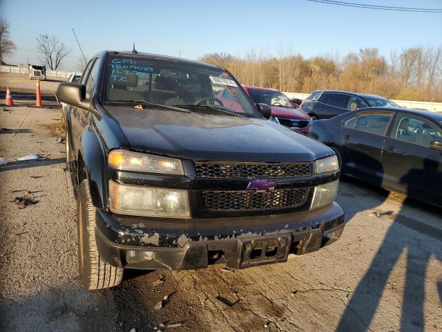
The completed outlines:
[[[335,90],[314,91],[300,105],[300,109],[307,112],[314,120],[333,118],[365,107],[399,108],[391,100],[378,95]]]

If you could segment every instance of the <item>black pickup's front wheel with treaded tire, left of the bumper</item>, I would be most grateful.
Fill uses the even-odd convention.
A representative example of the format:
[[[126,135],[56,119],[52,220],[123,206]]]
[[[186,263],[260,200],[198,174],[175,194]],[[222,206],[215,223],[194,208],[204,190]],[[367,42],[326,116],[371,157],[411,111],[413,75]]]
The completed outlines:
[[[78,270],[81,284],[88,289],[117,286],[122,282],[123,268],[111,266],[99,257],[95,241],[95,206],[85,179],[78,187],[77,199]]]

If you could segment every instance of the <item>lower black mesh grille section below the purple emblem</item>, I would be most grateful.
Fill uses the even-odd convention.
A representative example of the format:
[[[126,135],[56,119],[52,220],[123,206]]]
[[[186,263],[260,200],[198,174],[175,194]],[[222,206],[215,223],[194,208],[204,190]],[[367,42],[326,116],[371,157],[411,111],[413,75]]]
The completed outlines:
[[[307,202],[309,192],[309,188],[268,192],[205,191],[202,192],[202,197],[207,210],[273,210],[299,208]]]

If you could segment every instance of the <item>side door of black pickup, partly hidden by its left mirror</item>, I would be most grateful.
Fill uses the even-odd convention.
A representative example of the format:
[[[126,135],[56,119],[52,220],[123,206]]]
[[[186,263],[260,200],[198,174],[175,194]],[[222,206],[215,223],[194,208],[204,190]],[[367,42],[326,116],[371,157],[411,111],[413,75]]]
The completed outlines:
[[[86,85],[86,100],[90,100],[95,82],[97,82],[99,61],[98,59],[92,59],[88,68],[84,72],[84,76],[81,77],[81,84]],[[79,148],[79,139],[81,132],[86,126],[86,119],[88,117],[88,110],[81,109],[80,107],[71,107],[70,109],[70,128],[71,128],[71,140],[74,151]]]

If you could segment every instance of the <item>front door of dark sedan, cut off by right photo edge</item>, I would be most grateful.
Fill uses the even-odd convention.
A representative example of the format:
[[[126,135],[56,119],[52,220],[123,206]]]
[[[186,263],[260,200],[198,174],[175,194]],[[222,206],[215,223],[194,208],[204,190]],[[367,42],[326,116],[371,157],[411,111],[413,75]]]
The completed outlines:
[[[442,151],[430,147],[442,142],[439,124],[420,116],[399,113],[385,140],[385,184],[415,199],[442,201]]]

